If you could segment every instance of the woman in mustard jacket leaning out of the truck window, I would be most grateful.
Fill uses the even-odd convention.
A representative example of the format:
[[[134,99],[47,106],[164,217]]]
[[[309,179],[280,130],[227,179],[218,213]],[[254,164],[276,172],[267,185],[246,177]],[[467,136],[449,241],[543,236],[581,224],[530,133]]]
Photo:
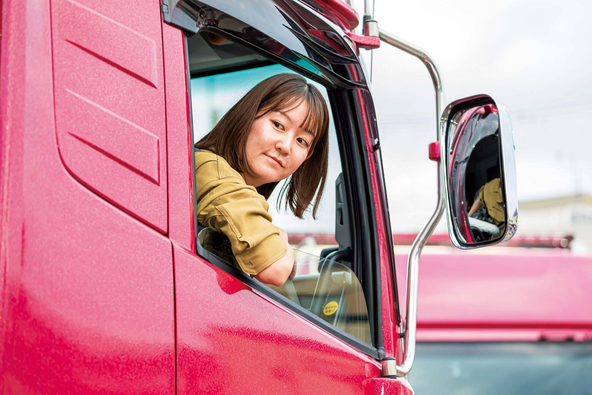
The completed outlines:
[[[267,199],[283,179],[285,207],[313,217],[329,155],[329,111],[313,85],[295,74],[260,82],[195,144],[197,220],[226,235],[237,266],[282,285],[294,266],[287,233],[274,226]]]

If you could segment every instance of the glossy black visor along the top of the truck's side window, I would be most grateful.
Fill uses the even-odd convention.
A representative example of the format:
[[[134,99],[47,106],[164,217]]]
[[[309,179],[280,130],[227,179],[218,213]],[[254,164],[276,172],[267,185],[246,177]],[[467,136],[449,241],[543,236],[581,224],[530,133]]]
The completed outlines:
[[[359,50],[343,27],[300,0],[162,0],[163,21],[192,36],[209,31],[327,88],[368,89]],[[355,11],[354,11],[355,12]]]

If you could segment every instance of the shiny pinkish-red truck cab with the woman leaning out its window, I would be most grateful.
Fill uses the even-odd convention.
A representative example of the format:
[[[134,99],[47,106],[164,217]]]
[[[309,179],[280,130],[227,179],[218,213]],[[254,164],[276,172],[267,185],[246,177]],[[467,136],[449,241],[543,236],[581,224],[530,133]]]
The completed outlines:
[[[442,111],[429,56],[368,15],[364,34],[352,33],[358,16],[339,0],[0,4],[2,393],[412,393],[417,263],[443,210],[461,248],[516,232],[502,106],[478,95]],[[442,181],[436,210],[407,265],[397,262],[408,266],[406,304],[360,56],[381,42],[427,66],[442,143],[430,146]],[[336,245],[298,257],[294,281],[272,288],[208,249],[192,158],[221,91],[200,81],[247,84],[250,72],[285,69],[322,86],[330,105]],[[449,156],[452,141],[470,143],[459,114],[486,105],[495,123],[472,120],[489,128],[493,156]],[[501,179],[499,237],[473,242],[455,227],[475,188],[464,174]]]

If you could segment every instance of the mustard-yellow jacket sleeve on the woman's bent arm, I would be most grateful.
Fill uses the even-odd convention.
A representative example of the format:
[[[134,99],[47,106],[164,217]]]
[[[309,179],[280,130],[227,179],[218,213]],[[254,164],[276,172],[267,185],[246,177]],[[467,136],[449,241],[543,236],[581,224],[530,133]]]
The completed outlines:
[[[240,268],[259,274],[287,252],[279,229],[271,223],[267,201],[219,157],[199,155],[202,158],[197,160],[196,155],[195,164],[198,223],[221,230],[230,239]]]

